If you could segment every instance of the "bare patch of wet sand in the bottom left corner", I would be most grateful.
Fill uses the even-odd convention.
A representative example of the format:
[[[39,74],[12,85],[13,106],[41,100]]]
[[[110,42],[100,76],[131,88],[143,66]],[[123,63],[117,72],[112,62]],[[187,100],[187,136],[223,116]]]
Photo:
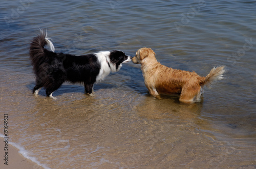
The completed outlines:
[[[1,153],[1,163],[0,168],[19,168],[19,169],[43,169],[44,167],[38,165],[37,163],[33,162],[32,160],[25,158],[22,154],[19,153],[19,149],[15,146],[8,143],[8,162],[6,165],[4,160],[5,155],[5,142],[4,138],[1,137],[0,139],[0,153]]]

